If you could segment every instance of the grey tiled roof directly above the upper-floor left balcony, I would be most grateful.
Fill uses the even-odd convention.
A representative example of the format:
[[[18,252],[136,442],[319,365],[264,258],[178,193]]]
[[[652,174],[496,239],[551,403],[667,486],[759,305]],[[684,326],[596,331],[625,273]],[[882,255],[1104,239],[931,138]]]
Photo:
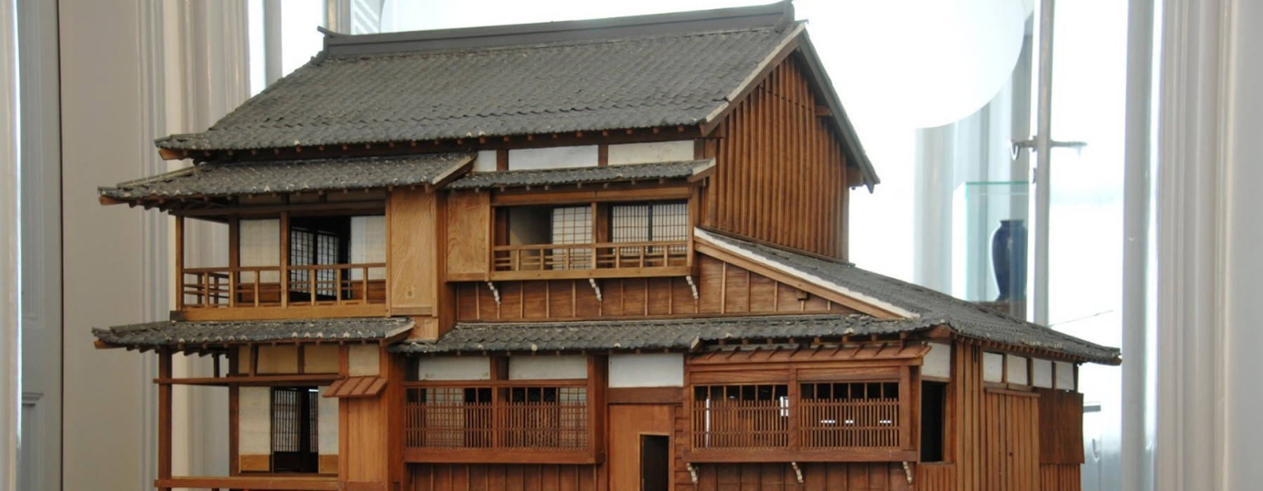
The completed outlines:
[[[116,199],[144,199],[436,184],[472,160],[474,154],[446,153],[206,163],[101,188],[101,194]]]

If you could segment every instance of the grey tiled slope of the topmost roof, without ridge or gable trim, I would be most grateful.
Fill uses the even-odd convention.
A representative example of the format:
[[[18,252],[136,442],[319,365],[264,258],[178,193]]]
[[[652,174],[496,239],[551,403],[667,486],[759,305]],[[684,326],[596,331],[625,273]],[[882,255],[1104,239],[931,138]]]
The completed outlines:
[[[325,56],[208,130],[158,146],[225,150],[696,125],[796,29]]]

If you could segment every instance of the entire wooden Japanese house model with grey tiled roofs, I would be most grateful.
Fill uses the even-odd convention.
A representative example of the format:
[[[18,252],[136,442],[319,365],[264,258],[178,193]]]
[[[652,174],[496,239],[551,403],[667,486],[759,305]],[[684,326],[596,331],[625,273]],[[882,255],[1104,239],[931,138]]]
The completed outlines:
[[[788,3],[328,33],[158,148],[101,202],[176,217],[178,305],[93,334],[159,358],[160,490],[1077,490],[1119,362],[847,263],[878,178]],[[227,476],[172,475],[181,384]]]

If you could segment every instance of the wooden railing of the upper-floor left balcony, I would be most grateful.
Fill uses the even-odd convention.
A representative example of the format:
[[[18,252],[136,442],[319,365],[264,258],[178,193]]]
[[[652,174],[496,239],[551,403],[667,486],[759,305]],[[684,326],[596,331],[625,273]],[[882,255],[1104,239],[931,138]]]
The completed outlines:
[[[186,268],[181,271],[181,307],[384,304],[385,266],[373,263]]]

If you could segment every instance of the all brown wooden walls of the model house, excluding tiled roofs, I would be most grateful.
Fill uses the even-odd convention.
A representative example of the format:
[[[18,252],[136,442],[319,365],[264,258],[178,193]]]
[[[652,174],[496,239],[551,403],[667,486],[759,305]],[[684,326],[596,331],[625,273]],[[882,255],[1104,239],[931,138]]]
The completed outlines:
[[[346,155],[356,157],[421,151],[407,150],[417,145],[433,145],[427,151],[482,151],[494,155],[495,172],[506,172],[513,170],[509,149],[595,145],[597,167],[611,167],[610,145],[685,143],[692,145],[693,158],[714,159],[703,174],[476,189],[437,183],[385,186],[163,203],[177,215],[181,280],[173,321],[407,318],[412,328],[392,338],[299,338],[296,333],[292,340],[202,346],[181,341],[160,348],[155,486],[1079,490],[1084,452],[1082,396],[1074,391],[1077,380],[1070,381],[1070,390],[1057,389],[1056,382],[1039,385],[1031,360],[1043,357],[1052,366],[1051,360],[1077,364],[1086,358],[984,343],[928,318],[914,328],[901,327],[895,323],[917,321],[919,313],[832,284],[810,268],[781,268],[706,239],[720,234],[826,266],[847,266],[842,261],[847,259],[849,193],[868,178],[847,162],[854,149],[847,148],[837,115],[831,112],[831,91],[818,86],[813,54],[798,43],[786,44],[751,73],[722,117],[709,124],[470,136],[407,146],[344,145]],[[275,149],[274,155],[301,151]],[[251,155],[248,159],[261,158]],[[546,170],[573,168],[562,164]],[[647,212],[637,222],[647,237],[616,240],[615,207],[666,204],[682,210],[668,223],[682,230],[682,236],[664,239],[658,230],[667,227],[654,228],[653,213]],[[538,212],[532,220],[546,223],[541,227],[553,227],[556,222],[548,220],[557,218],[544,213],[562,208],[586,217],[571,223],[581,228],[576,234],[581,239],[557,240],[560,234],[551,228],[533,234],[544,239],[514,236],[510,217],[524,208]],[[368,222],[360,220],[366,216],[380,218],[380,234],[374,228],[355,236],[349,223],[366,228]],[[229,226],[226,265],[186,268],[183,227],[195,218]],[[250,220],[277,225],[266,228],[265,237],[250,239],[249,225],[242,226]],[[316,235],[322,232],[317,230],[322,220],[337,223],[330,227],[336,232],[326,234],[335,252],[296,261],[299,254],[318,256],[312,251],[321,247]],[[296,244],[303,240],[311,244]],[[378,246],[381,257],[374,256]],[[259,265],[258,257],[274,264]],[[687,347],[655,350],[537,350],[530,345],[407,353],[390,347],[436,343],[457,328],[530,322],[789,314],[836,316],[888,328],[709,341],[698,336]],[[946,355],[931,374],[927,364],[933,350]],[[217,362],[224,357],[229,369],[222,375],[216,370],[213,377],[173,379],[174,351],[213,355]],[[1004,360],[1021,356],[1026,380],[1008,379],[1007,365],[999,380],[989,380],[988,353],[1004,355]],[[666,382],[615,384],[610,369],[615,356],[649,355],[669,356],[678,372],[664,370],[669,372]],[[541,375],[522,369],[529,369],[528,362],[514,365],[563,357],[581,357],[582,376]],[[422,375],[440,365],[448,371]],[[637,369],[657,367],[625,370]],[[229,476],[172,475],[172,386],[181,384],[229,387]],[[937,385],[927,390],[927,384]],[[275,420],[269,427],[260,423],[266,415],[250,419],[260,414],[263,399],[249,394],[258,395],[260,387],[309,390],[336,399],[336,452],[321,449],[314,467],[297,472],[278,464],[275,446],[264,444],[275,442],[268,433]],[[941,406],[927,405],[938,400],[930,394],[941,398]],[[277,413],[275,404],[263,406]],[[314,424],[320,430],[311,418],[320,415],[297,420],[307,423],[304,429]]]

